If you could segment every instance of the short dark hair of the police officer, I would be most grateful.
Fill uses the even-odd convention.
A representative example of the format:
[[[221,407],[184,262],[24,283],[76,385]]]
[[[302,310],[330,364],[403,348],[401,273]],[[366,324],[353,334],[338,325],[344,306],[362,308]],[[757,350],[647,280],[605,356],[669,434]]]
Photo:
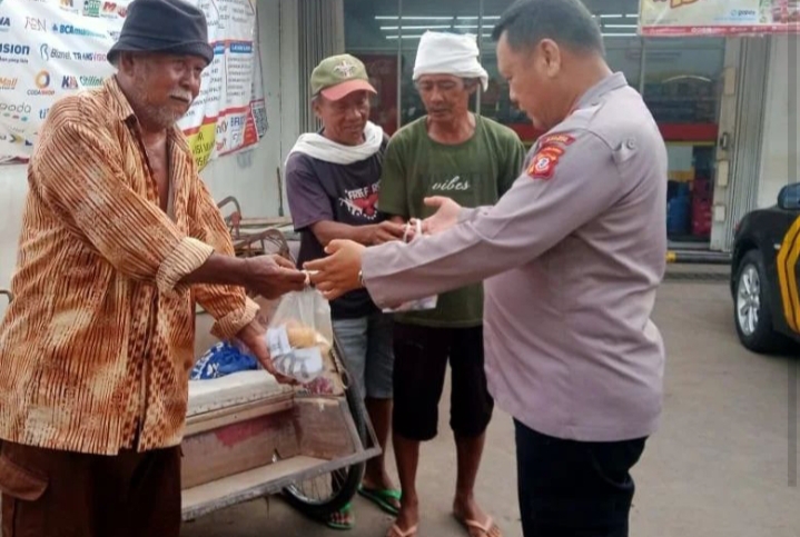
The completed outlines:
[[[552,39],[579,52],[605,54],[600,26],[581,0],[517,0],[495,24],[492,39],[498,41],[503,32],[514,50]]]

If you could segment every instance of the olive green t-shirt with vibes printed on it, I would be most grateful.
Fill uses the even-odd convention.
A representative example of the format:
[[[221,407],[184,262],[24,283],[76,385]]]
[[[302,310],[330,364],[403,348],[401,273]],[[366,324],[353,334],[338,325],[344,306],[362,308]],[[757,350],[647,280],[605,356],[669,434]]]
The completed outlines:
[[[448,146],[432,140],[426,118],[419,118],[389,140],[378,208],[408,219],[433,213],[423,202],[428,196],[446,196],[462,207],[494,205],[520,176],[524,159],[525,147],[516,133],[491,119],[475,116],[473,137]],[[398,314],[396,319],[443,328],[480,326],[483,284],[442,294],[436,309]]]

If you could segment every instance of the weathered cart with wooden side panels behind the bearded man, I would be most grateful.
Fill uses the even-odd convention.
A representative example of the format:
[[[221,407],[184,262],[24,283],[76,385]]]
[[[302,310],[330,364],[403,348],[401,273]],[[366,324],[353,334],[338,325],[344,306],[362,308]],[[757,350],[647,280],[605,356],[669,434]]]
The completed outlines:
[[[225,221],[238,257],[271,252],[292,258],[284,232],[290,225],[288,218],[246,219],[236,198],[218,202],[220,211],[228,206],[234,210]],[[192,442],[204,435],[219,436],[226,428],[260,427],[264,439],[273,435],[275,441],[266,440],[260,446],[255,442],[255,451],[250,453],[219,451],[219,457],[250,463],[234,464],[231,471],[220,470],[211,476],[214,479],[205,479],[207,483],[185,487],[185,520],[275,494],[283,494],[295,508],[317,518],[327,517],[350,501],[361,485],[366,460],[379,455],[381,448],[357,387],[347,382],[337,341],[332,354],[346,385],[342,396],[283,394],[187,419],[185,461],[192,456]],[[191,485],[186,471],[184,479]],[[328,488],[315,494],[319,484]]]

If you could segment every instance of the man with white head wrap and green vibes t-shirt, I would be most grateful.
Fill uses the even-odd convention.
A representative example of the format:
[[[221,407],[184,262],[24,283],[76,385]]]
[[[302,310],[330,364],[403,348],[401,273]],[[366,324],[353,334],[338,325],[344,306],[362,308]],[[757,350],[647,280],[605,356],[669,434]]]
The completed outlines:
[[[478,84],[488,82],[474,36],[426,32],[414,82],[427,116],[389,141],[378,206],[398,222],[425,218],[424,199],[444,196],[476,207],[492,205],[522,169],[525,149],[511,129],[470,112]],[[393,437],[403,495],[391,537],[416,534],[415,486],[419,442],[436,436],[437,409],[450,359],[451,427],[458,459],[454,515],[473,537],[498,537],[477,506],[474,485],[494,402],[483,365],[483,286],[443,294],[433,310],[395,317]]]

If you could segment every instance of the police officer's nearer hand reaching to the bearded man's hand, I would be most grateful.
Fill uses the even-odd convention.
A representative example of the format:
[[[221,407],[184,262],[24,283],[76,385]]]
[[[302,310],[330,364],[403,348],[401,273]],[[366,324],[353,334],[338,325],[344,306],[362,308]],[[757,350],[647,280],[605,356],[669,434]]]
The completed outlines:
[[[352,240],[332,240],[325,248],[328,257],[308,261],[304,268],[310,272],[314,287],[326,299],[334,300],[362,287],[359,272],[365,249]]]

